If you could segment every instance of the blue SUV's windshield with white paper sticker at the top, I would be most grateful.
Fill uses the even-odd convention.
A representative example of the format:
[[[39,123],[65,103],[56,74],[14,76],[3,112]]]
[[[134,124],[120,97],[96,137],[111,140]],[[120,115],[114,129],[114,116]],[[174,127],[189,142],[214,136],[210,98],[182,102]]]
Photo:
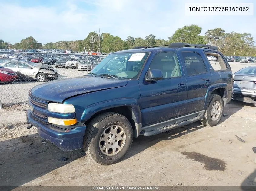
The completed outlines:
[[[110,74],[119,78],[135,79],[149,53],[114,53],[103,59],[92,71],[94,75]]]

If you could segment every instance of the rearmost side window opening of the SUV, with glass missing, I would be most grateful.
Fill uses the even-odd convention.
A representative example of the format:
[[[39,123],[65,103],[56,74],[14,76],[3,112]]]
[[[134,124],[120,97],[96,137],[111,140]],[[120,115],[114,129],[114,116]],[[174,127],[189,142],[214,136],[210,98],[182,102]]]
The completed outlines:
[[[211,56],[211,58],[208,58],[212,69],[214,72],[219,72],[221,70],[227,70],[227,65],[224,62],[224,59],[222,59],[221,55],[218,53],[205,53],[206,56]]]

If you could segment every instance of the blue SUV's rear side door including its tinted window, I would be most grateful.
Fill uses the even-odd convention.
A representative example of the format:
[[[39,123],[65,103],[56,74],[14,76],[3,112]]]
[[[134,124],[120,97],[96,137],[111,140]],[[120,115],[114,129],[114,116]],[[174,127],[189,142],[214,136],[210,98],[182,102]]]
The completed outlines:
[[[185,65],[185,77],[188,86],[186,114],[201,111],[204,108],[205,95],[211,85],[211,74],[208,72],[200,54],[192,51],[181,52]]]

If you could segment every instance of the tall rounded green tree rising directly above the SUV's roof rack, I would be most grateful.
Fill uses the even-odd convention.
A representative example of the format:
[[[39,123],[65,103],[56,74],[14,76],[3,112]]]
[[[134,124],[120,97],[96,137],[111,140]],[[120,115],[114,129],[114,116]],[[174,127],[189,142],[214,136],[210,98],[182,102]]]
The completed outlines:
[[[172,37],[168,37],[170,43],[181,42],[189,44],[205,44],[203,37],[200,36],[201,27],[197,25],[189,25],[179,28]]]

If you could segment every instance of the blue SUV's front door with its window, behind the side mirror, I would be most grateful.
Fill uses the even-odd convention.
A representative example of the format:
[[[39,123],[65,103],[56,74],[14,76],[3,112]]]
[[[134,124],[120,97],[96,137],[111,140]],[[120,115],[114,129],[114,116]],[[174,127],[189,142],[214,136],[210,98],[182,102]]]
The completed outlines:
[[[181,68],[175,52],[162,52],[155,55],[149,69],[161,70],[163,79],[147,82],[144,78],[143,81],[139,81],[142,126],[185,114],[187,85]]]

